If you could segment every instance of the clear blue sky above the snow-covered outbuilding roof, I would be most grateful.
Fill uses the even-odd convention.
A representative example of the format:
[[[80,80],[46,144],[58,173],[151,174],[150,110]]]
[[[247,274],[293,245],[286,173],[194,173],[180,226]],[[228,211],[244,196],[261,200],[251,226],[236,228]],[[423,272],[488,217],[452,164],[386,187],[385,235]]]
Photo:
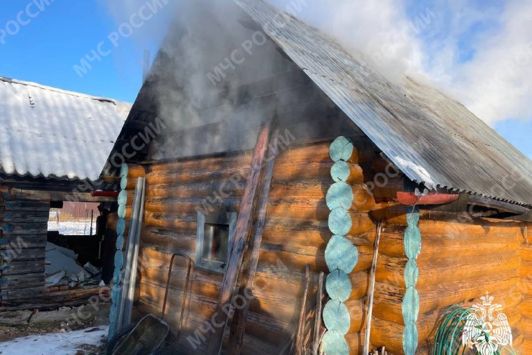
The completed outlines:
[[[30,0],[2,1],[0,28],[16,21],[17,13],[28,3]],[[30,8],[32,13],[37,11]],[[21,19],[26,22],[29,17],[23,15]],[[160,38],[139,40],[134,34],[121,38],[114,48],[107,36],[117,27],[103,1],[55,0],[29,24],[20,26],[16,35],[4,37],[6,43],[0,44],[0,76],[133,102],[141,86],[143,51],[150,50],[153,57]],[[90,62],[93,69],[80,78],[73,66],[102,41],[105,52],[113,49],[112,53]]]

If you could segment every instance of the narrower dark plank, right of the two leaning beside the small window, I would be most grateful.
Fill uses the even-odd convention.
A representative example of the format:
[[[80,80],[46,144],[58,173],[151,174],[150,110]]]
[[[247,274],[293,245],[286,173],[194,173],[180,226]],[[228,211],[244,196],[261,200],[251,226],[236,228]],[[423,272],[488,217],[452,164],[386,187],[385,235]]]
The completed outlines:
[[[266,222],[266,210],[268,206],[269,188],[272,184],[272,175],[274,171],[276,147],[277,147],[278,130],[272,134],[271,144],[268,149],[268,161],[265,166],[263,181],[260,186],[260,202],[258,203],[258,214],[255,225],[254,239],[250,241],[248,252],[244,256],[244,274],[240,283],[240,295],[245,296],[246,292],[253,290],[255,281],[255,272],[257,270],[258,256],[260,254],[260,243],[263,240],[263,231]],[[244,333],[246,325],[247,311],[249,310],[249,301],[246,302],[242,309],[236,309],[231,322],[231,331],[227,353],[238,355],[242,351],[244,344]]]

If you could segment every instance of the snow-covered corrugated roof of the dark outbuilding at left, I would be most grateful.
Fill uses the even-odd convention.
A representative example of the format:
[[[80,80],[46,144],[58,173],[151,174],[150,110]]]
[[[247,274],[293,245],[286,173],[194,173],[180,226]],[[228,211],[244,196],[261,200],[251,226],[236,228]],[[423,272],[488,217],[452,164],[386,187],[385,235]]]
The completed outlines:
[[[0,77],[0,171],[97,180],[130,108]]]

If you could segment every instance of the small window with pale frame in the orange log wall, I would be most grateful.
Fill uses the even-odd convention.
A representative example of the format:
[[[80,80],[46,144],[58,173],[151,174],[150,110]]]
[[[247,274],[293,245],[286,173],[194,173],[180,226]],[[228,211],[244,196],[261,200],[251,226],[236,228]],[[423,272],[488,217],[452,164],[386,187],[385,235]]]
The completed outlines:
[[[235,225],[236,212],[197,212],[197,267],[213,272],[225,272]]]

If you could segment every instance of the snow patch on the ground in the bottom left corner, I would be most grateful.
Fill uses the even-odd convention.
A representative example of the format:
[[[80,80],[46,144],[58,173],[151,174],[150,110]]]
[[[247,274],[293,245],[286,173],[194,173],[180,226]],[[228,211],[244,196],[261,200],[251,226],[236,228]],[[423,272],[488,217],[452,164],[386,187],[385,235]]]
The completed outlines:
[[[90,327],[64,333],[24,336],[0,343],[1,355],[76,355],[83,345],[99,346],[107,326]],[[91,331],[97,329],[96,331]]]

